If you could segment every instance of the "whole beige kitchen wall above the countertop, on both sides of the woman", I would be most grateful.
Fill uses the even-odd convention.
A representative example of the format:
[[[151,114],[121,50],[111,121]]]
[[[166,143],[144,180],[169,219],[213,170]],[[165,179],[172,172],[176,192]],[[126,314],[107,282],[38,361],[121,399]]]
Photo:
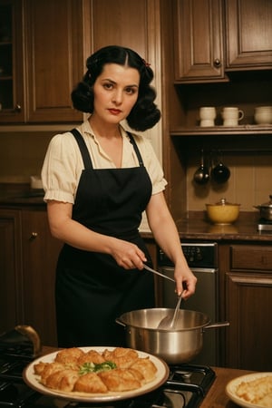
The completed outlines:
[[[50,131],[1,131],[0,135],[0,182],[27,183],[31,175],[39,175],[49,141],[62,129]],[[160,155],[157,132],[148,135]],[[209,182],[199,186],[193,182],[193,174],[199,167],[197,151],[187,161],[188,210],[201,211],[206,203],[215,203],[221,198],[241,204],[243,211],[255,211],[253,205],[267,202],[272,194],[271,154],[226,155],[224,164],[230,169],[226,184]]]

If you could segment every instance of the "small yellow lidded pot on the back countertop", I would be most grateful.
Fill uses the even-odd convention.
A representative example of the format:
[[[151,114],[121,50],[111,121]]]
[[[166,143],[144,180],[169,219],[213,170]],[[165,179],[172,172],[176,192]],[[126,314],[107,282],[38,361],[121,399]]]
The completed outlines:
[[[224,199],[217,204],[206,204],[207,215],[214,224],[232,224],[238,219],[240,204],[229,204]]]

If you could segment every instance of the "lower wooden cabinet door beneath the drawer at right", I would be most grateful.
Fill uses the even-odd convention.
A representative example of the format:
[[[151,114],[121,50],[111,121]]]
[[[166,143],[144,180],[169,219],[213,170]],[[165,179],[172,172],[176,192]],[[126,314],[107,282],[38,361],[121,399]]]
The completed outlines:
[[[227,365],[271,371],[272,275],[227,275]]]

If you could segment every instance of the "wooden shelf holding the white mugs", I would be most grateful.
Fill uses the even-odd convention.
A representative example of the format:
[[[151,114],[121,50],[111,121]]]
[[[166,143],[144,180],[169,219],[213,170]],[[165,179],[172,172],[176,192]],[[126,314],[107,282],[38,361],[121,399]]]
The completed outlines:
[[[227,126],[211,126],[211,127],[200,127],[196,126],[193,128],[180,127],[177,129],[170,130],[171,136],[213,136],[213,135],[258,135],[258,134],[271,134],[272,135],[272,125],[239,125],[236,127]]]

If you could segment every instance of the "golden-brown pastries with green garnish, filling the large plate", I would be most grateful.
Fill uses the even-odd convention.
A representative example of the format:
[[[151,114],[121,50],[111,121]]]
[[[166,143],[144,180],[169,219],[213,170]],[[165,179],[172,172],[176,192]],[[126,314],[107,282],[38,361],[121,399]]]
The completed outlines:
[[[116,347],[83,352],[63,349],[52,363],[34,364],[34,374],[44,386],[62,392],[109,393],[136,390],[151,382],[157,367],[149,357],[140,358],[131,348]]]

